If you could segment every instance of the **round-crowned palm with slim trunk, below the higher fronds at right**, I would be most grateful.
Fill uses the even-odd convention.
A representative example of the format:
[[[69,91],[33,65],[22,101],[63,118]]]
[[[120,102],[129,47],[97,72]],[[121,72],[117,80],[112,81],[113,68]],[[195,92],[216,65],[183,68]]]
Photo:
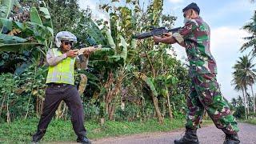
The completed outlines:
[[[255,64],[252,63],[252,58],[249,58],[248,55],[239,58],[237,63],[234,65],[234,85],[235,90],[242,90],[242,95],[245,102],[245,107],[247,108],[247,114],[249,113],[249,107],[247,106],[247,86],[250,86],[252,89],[252,85],[255,82],[256,74],[254,73]],[[252,89],[252,95],[254,98],[254,92]],[[255,107],[255,102],[254,102]]]

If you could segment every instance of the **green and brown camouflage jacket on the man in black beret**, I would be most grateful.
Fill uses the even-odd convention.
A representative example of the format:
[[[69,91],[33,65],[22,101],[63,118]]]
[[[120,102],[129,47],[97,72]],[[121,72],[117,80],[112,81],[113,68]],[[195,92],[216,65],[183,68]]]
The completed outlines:
[[[217,74],[216,62],[210,54],[210,27],[202,18],[190,19],[173,36],[178,42],[185,42],[192,77],[198,74]]]

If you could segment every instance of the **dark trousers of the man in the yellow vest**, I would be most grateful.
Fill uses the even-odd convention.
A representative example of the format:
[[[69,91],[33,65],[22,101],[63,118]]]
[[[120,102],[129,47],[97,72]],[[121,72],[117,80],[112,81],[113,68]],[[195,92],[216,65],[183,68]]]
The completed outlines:
[[[40,140],[46,134],[47,126],[62,100],[66,102],[71,112],[71,122],[75,134],[78,135],[78,138],[83,138],[86,135],[82,100],[77,88],[66,84],[49,84],[46,88],[46,98],[38,123],[38,131],[33,135],[33,140]]]

